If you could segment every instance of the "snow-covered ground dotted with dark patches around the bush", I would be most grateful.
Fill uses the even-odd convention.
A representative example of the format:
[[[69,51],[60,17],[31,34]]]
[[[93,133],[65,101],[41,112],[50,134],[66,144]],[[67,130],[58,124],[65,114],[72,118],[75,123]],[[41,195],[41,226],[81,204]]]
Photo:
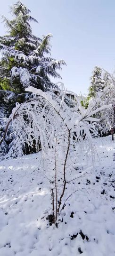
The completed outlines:
[[[58,228],[46,219],[52,206],[41,153],[0,163],[0,256],[115,255],[115,142],[108,136],[94,143],[95,163],[78,163],[80,177],[67,193],[77,191]]]

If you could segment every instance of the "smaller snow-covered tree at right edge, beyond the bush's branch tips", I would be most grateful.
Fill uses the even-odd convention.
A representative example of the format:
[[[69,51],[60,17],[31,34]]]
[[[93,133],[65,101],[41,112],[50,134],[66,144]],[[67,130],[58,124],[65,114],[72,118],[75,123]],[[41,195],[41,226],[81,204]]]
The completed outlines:
[[[102,107],[105,104],[111,104],[111,107],[107,110],[101,110],[93,117],[99,119],[99,134],[105,136],[112,133],[112,140],[114,140],[115,129],[115,79],[114,76],[102,68],[95,67],[93,75],[91,77],[91,85],[89,88],[89,94],[87,99],[96,97],[101,93],[106,92],[101,97],[101,101],[98,103],[98,107]]]

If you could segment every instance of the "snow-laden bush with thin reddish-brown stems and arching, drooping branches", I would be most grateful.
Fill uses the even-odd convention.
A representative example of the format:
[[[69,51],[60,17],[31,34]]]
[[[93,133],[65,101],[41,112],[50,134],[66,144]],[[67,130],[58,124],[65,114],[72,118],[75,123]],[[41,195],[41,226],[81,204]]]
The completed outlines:
[[[35,96],[22,104],[16,103],[9,117],[4,136],[8,127],[12,126],[11,136],[14,140],[10,145],[9,157],[20,156],[25,150],[25,145],[32,147],[34,144],[39,149],[41,142],[43,168],[50,181],[52,194],[52,211],[49,214],[49,222],[57,223],[58,217],[64,209],[68,198],[67,184],[76,179],[73,169],[76,163],[76,144],[80,142],[83,147],[84,139],[87,141],[87,151],[94,153],[92,134],[98,133],[92,116],[104,108],[96,109],[102,95],[90,100],[87,110],[82,107],[79,98],[78,104],[70,108],[62,99],[49,92],[43,92],[34,87],[26,91],[33,92]]]

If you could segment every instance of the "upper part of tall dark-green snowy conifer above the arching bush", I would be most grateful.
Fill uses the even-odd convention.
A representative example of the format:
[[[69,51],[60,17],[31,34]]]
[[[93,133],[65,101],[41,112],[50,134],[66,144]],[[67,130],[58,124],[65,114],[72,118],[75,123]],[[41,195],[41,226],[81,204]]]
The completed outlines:
[[[47,91],[53,87],[50,76],[61,79],[57,69],[64,65],[63,60],[51,58],[51,34],[42,39],[32,34],[30,10],[20,1],[11,7],[15,17],[3,22],[8,35],[0,37],[0,89],[24,92],[28,86]]]

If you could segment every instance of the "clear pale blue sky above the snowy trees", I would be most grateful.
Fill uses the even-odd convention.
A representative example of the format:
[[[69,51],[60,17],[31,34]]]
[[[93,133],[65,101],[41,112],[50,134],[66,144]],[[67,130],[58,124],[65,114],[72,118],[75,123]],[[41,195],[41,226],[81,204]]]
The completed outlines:
[[[51,55],[64,59],[60,72],[68,90],[87,93],[95,65],[109,72],[115,69],[115,0],[22,0],[39,24],[33,34],[51,33]],[[9,6],[16,0],[0,3],[0,14],[11,18]],[[0,35],[5,34],[0,24]],[[58,82],[58,80],[56,80]]]

